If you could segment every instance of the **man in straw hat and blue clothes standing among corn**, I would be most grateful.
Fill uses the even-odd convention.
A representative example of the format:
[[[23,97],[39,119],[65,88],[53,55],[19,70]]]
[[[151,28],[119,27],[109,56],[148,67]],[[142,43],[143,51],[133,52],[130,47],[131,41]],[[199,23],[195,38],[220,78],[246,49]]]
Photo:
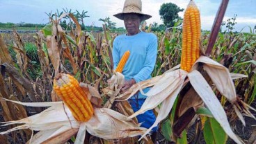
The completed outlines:
[[[125,75],[125,84],[121,92],[127,91],[136,82],[151,78],[151,73],[157,59],[157,36],[152,33],[144,33],[139,29],[141,21],[149,19],[150,15],[141,12],[141,0],[126,0],[121,13],[114,15],[125,23],[127,33],[119,35],[113,42],[113,63],[116,69],[120,58],[125,51],[130,51],[129,59],[125,64],[122,74]],[[143,89],[144,93],[150,89]],[[132,109],[138,111],[143,105],[146,96],[137,93],[129,99]],[[141,127],[149,128],[153,125],[156,117],[152,110],[137,116]],[[157,127],[152,129],[156,132]]]

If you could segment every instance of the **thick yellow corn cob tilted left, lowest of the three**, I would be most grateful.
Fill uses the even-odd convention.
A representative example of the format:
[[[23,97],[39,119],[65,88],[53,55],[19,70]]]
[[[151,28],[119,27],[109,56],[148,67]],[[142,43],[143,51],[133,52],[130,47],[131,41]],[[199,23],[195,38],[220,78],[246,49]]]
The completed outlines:
[[[54,79],[54,91],[76,120],[86,122],[93,116],[93,106],[87,98],[89,91],[79,87],[79,82],[72,75],[59,73]]]

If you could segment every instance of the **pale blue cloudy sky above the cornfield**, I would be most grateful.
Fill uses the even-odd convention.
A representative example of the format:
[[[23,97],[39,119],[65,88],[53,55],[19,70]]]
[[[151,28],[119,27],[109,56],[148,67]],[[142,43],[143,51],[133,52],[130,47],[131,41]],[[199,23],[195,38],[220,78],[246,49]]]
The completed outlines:
[[[221,3],[221,0],[194,0],[200,9],[201,25],[203,30],[211,30],[214,17]],[[33,23],[45,24],[49,21],[45,12],[56,12],[63,8],[72,11],[88,11],[90,17],[84,19],[86,26],[94,24],[102,26],[100,18],[110,17],[116,22],[117,27],[123,27],[123,22],[114,14],[122,12],[125,0],[0,0],[0,22],[12,23]],[[152,15],[147,20],[147,24],[157,22],[163,24],[159,16],[159,9],[162,3],[175,3],[179,8],[186,8],[189,0],[142,0],[143,12]],[[236,30],[240,31],[245,26],[254,27],[256,25],[256,0],[230,0],[225,13],[224,21],[237,14]],[[184,12],[179,12],[183,17]],[[248,27],[244,28],[248,31]]]

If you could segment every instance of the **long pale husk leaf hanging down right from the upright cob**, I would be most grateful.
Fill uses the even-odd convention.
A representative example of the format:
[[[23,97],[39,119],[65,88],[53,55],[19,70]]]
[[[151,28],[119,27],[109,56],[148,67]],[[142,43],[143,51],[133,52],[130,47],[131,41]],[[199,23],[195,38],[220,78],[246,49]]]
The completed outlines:
[[[188,77],[193,88],[198,93],[200,98],[202,98],[202,100],[205,102],[205,105],[207,105],[214,118],[216,118],[221,127],[223,127],[226,134],[230,136],[230,138],[232,138],[236,143],[243,143],[243,141],[241,141],[241,139],[234,134],[234,132],[232,132],[225,111],[221,106],[221,102],[219,102],[218,98],[216,98],[214,91],[212,91],[211,87],[205,78],[202,77],[201,73],[194,70],[189,73]]]

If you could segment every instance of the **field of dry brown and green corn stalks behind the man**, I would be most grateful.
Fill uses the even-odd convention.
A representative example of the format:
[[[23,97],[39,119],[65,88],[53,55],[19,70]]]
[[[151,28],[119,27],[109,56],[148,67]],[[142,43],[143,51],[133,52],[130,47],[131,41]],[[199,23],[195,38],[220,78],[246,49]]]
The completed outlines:
[[[52,20],[51,24],[49,24],[49,29],[39,30],[35,34],[22,35],[13,30],[12,34],[0,35],[0,98],[21,102],[59,101],[60,99],[53,91],[54,78],[58,73],[68,73],[74,75],[74,78],[79,82],[93,86],[103,100],[102,106],[120,111],[120,107],[123,108],[122,105],[125,105],[125,103],[121,103],[122,105],[120,106],[120,103],[114,102],[113,105],[106,106],[111,98],[104,93],[104,88],[108,87],[107,80],[115,73],[113,71],[111,49],[113,47],[113,39],[118,33],[110,33],[106,28],[103,33],[85,33],[81,30],[76,19],[72,15],[69,15],[69,17],[74,21],[74,24],[77,24],[74,29],[69,31],[63,30],[58,25],[58,20]],[[141,30],[151,33],[150,28],[141,28]],[[177,66],[182,57],[181,28],[172,28],[166,32],[155,33],[155,35],[158,37],[159,45],[157,63],[152,72],[152,78],[162,75]],[[202,31],[199,44],[202,52],[206,51],[209,37],[209,31]],[[218,33],[210,57],[212,60],[226,66],[230,73],[248,75],[248,78],[234,80],[234,86],[239,100],[255,108],[255,32]],[[212,85],[212,87],[225,109],[234,132],[243,141],[252,143],[256,132],[255,127],[253,128],[255,122],[248,123],[243,132],[241,125],[239,125],[239,118],[234,109],[232,109],[230,102],[216,89],[215,85]],[[0,102],[1,122],[20,120],[45,110],[42,107],[24,107],[6,100],[1,100]],[[131,109],[127,111],[131,111]],[[130,114],[125,115],[129,116]],[[174,115],[170,113],[168,118],[160,123],[159,133],[163,135],[163,139],[161,139],[163,143],[171,141],[170,135],[173,134],[170,132],[169,127],[171,125],[171,117],[174,117]],[[250,119],[246,118],[246,121],[248,120]],[[186,129],[188,135],[185,137],[189,142],[199,141],[197,139],[202,130],[202,123],[199,123],[199,120],[195,121],[194,129]],[[214,123],[209,122],[211,119],[205,121],[205,123]],[[13,127],[13,125],[2,126],[0,132]],[[206,124],[205,127],[207,127]],[[8,135],[0,135],[0,143],[26,143],[30,140],[31,135],[31,130],[20,129]],[[86,134],[87,136],[90,143],[109,143],[88,133]],[[70,137],[68,142],[73,143],[74,136]],[[179,143],[182,143],[180,141]],[[111,141],[111,143],[114,142]],[[204,142],[201,141],[200,143]]]

